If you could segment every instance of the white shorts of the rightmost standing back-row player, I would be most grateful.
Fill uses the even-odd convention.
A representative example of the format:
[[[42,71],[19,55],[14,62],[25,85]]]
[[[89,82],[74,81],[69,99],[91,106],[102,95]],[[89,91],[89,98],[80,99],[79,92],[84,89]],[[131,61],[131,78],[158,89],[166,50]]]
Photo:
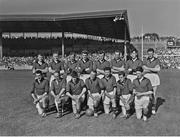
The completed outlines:
[[[144,75],[144,77],[148,78],[151,81],[152,86],[159,86],[160,85],[160,79],[158,74],[155,73],[147,73]]]

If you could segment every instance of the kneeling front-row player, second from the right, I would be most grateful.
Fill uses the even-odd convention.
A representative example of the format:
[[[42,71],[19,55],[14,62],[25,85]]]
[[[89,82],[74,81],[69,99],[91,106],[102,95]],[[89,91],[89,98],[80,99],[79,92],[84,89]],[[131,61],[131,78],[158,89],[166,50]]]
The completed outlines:
[[[130,79],[126,78],[125,72],[120,71],[118,75],[117,95],[120,96],[119,105],[122,108],[122,117],[128,118],[130,116],[130,106],[134,100],[132,95],[133,84]]]

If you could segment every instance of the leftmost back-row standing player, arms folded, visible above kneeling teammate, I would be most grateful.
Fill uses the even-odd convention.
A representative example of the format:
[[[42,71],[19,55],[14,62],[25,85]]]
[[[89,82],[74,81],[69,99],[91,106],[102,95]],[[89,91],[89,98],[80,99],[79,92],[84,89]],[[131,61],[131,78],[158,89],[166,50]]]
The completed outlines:
[[[38,54],[37,60],[33,63],[33,74],[35,74],[37,70],[40,70],[44,76],[46,76],[46,73],[48,72],[48,64],[44,62],[43,56],[41,54]]]

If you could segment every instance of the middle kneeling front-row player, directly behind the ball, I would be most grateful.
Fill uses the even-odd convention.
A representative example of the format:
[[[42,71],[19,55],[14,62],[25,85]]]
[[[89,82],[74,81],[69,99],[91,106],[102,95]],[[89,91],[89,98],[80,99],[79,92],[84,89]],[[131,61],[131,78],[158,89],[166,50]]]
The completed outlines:
[[[101,80],[97,77],[96,71],[91,71],[90,77],[86,79],[86,87],[88,91],[88,106],[94,111],[94,116],[97,117],[97,109],[100,103],[101,89],[103,88]]]

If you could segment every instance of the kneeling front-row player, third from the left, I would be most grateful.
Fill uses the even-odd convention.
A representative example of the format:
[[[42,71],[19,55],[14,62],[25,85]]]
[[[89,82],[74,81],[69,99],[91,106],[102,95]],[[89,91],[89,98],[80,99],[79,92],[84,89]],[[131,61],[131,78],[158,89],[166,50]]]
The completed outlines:
[[[72,99],[72,108],[75,118],[80,118],[81,104],[84,101],[84,94],[86,92],[86,86],[82,79],[79,78],[76,71],[71,73],[72,79],[68,82],[66,87],[66,95]]]

